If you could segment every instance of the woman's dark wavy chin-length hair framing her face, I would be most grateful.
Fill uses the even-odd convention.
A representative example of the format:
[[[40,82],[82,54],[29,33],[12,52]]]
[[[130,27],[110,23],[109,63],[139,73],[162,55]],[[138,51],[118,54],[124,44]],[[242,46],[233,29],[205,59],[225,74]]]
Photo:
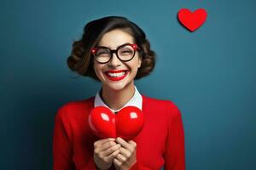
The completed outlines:
[[[135,23],[121,16],[108,16],[98,20],[92,20],[84,26],[83,37],[73,42],[72,54],[67,58],[67,65],[72,71],[76,71],[84,77],[92,77],[100,81],[93,69],[93,55],[91,48],[101,40],[102,36],[114,29],[121,29],[129,33],[141,48],[139,57],[142,59],[141,67],[138,68],[135,80],[149,75],[154,70],[155,53],[150,49],[150,43],[146,39],[144,31]]]

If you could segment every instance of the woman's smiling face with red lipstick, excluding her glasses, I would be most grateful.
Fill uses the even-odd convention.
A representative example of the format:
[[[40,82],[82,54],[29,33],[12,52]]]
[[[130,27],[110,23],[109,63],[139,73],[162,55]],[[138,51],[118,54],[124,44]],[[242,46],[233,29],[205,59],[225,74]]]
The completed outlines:
[[[113,30],[105,33],[98,43],[98,46],[104,46],[110,49],[116,49],[125,43],[134,43],[133,37],[130,34],[122,30]],[[116,54],[113,53],[113,58],[106,64],[100,64],[94,60],[94,70],[96,76],[101,80],[102,86],[105,88],[111,88],[113,90],[121,90],[128,85],[133,85],[134,78],[137,75],[137,70],[141,66],[141,59],[139,54],[135,53],[135,56],[130,61],[123,62],[118,59]],[[109,74],[109,71],[121,71],[118,74]],[[122,75],[125,73],[125,76]],[[123,78],[122,78],[123,77]],[[119,80],[120,79],[120,80]]]

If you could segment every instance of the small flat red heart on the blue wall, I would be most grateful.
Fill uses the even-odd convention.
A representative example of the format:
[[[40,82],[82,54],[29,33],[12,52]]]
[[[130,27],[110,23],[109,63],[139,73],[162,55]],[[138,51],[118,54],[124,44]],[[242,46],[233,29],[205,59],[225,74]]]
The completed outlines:
[[[188,8],[182,8],[178,11],[177,18],[189,31],[195,31],[207,20],[207,11],[198,8],[191,12]]]

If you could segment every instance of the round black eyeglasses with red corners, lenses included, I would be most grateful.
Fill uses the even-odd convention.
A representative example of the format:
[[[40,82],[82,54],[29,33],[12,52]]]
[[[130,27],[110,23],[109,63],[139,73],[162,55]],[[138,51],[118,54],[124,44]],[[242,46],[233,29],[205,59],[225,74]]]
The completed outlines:
[[[109,49],[104,46],[97,46],[96,48],[92,48],[91,54],[94,55],[94,58],[97,62],[105,64],[108,63],[110,59],[112,59],[113,53],[116,54],[116,56],[121,61],[130,61],[135,56],[137,50],[141,49],[137,47],[136,43],[125,43],[115,50]]]

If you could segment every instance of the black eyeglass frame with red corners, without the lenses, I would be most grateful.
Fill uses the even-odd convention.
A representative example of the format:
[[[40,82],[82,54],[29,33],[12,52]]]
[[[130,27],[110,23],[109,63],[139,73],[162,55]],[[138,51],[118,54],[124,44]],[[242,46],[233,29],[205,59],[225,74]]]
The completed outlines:
[[[119,46],[118,48],[116,48],[116,49],[110,49],[110,48],[105,47],[105,46],[96,46],[95,48],[92,48],[92,49],[91,49],[91,54],[93,54],[94,59],[96,59],[96,50],[97,50],[98,48],[107,48],[107,50],[110,52],[110,58],[109,58],[108,61],[106,61],[106,62],[100,62],[100,61],[98,61],[98,60],[96,59],[96,61],[97,61],[98,63],[100,63],[100,64],[106,64],[106,63],[108,63],[108,62],[113,58],[113,53],[116,54],[116,56],[118,57],[119,60],[121,60],[121,61],[123,61],[123,62],[128,62],[128,61],[131,61],[131,59],[128,59],[128,60],[120,59],[120,58],[119,58],[119,54],[118,54],[119,48],[123,48],[123,47],[125,47],[125,46],[127,46],[127,45],[131,46],[131,48],[134,49],[134,54],[133,54],[133,56],[131,57],[131,59],[133,59],[134,56],[135,56],[135,54],[136,54],[136,51],[141,51],[141,49],[137,47],[137,44],[136,44],[136,43],[125,43],[125,44],[123,44],[123,45],[120,45],[120,46]]]

